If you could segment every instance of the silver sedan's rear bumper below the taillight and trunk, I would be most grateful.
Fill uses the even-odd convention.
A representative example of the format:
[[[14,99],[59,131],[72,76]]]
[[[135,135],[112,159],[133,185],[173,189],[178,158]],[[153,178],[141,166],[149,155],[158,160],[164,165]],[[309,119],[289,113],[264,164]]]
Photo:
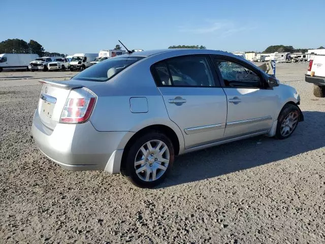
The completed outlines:
[[[119,173],[123,141],[132,132],[99,132],[90,121],[60,124],[54,130],[45,127],[36,111],[31,133],[42,153],[62,168],[74,171],[105,170]],[[131,133],[131,134],[130,134]]]

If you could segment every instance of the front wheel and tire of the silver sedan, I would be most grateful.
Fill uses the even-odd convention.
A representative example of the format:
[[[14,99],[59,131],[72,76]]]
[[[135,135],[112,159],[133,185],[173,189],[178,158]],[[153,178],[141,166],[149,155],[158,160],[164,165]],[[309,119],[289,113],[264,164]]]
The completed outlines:
[[[297,105],[286,104],[278,117],[275,138],[286,139],[296,130],[300,119],[300,110]]]

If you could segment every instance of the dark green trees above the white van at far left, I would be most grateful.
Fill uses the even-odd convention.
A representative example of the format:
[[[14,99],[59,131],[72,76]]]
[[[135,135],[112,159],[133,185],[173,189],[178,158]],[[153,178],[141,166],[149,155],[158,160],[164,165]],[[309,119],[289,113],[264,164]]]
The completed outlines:
[[[30,40],[27,43],[21,39],[8,39],[6,41],[0,42],[0,53],[36,53],[40,57],[66,56],[66,54],[63,53],[45,51],[44,47],[37,41]]]

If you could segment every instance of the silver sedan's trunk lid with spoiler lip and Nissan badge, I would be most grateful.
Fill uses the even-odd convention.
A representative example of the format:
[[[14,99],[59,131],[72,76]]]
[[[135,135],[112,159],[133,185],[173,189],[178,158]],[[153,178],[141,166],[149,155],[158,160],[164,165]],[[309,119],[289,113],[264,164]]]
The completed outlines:
[[[70,90],[82,87],[82,85],[69,82],[57,82],[40,80],[43,83],[39,100],[38,113],[42,123],[54,130],[60,120],[61,112],[66,104]]]

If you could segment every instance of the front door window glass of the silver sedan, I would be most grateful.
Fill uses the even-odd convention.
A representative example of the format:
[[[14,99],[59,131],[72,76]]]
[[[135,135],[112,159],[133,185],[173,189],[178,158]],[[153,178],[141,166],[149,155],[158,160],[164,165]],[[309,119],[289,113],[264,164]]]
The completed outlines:
[[[259,87],[261,78],[252,70],[227,60],[215,59],[226,87]]]

